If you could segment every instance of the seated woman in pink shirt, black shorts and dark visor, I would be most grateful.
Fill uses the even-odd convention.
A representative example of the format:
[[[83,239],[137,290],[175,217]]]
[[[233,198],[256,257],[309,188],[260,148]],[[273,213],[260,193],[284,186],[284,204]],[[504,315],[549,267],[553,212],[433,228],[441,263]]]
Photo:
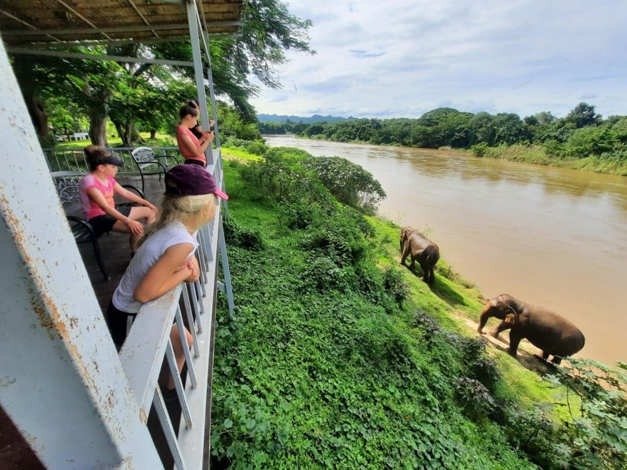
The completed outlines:
[[[144,233],[144,226],[138,220],[146,219],[147,224],[154,222],[157,207],[115,182],[113,177],[117,174],[118,167],[124,165],[122,160],[95,145],[85,147],[83,152],[91,170],[79,185],[85,218],[95,230],[96,236],[112,231],[130,234],[130,249],[134,252],[135,243]],[[119,194],[129,201],[142,204],[143,207],[115,207],[113,194]]]

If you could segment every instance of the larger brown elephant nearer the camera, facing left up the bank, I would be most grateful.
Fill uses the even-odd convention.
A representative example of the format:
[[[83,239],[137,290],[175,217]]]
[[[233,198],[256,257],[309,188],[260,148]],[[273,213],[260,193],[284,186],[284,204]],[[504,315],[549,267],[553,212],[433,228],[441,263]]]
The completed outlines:
[[[530,305],[511,295],[499,295],[483,306],[477,328],[481,335],[484,334],[483,326],[491,316],[502,320],[490,332],[493,337],[497,338],[498,333],[511,328],[508,353],[514,357],[523,338],[542,350],[543,359],[547,360],[549,355],[553,355],[552,362],[556,364],[560,363],[561,357],[579,352],[586,343],[581,330],[571,321],[547,308]]]

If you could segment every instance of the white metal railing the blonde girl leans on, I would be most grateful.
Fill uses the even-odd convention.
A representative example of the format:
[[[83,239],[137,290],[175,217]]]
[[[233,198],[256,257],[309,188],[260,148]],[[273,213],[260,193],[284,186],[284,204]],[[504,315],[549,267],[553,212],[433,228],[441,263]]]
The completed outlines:
[[[219,158],[216,159],[213,173],[219,187],[223,187]],[[210,428],[216,293],[218,287],[224,286],[218,283],[216,275],[218,249],[222,253],[223,273],[228,273],[228,264],[224,264],[226,251],[223,250],[226,247],[220,214],[221,200],[218,201],[216,217],[201,227],[197,234],[200,278],[195,283],[179,285],[160,298],[144,304],[120,350],[120,361],[137,399],[140,416],[147,424],[150,406],[154,405],[169,450],[179,470],[201,468],[206,450],[204,432]],[[225,285],[229,310],[232,310],[233,296],[228,277],[225,277]],[[184,326],[187,326],[194,339],[191,349],[184,347],[187,364],[184,383],[178,372],[170,340],[173,322],[179,328],[183,345],[187,344]],[[179,423],[171,422],[157,384],[164,358],[174,377],[181,406]]]

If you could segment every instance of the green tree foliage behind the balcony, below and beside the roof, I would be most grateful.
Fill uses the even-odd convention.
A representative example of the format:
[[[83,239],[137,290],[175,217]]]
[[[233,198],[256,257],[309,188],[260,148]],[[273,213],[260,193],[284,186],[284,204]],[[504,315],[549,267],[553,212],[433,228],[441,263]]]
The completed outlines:
[[[260,92],[249,78],[256,76],[264,86],[280,87],[274,67],[287,61],[285,51],[314,53],[308,45],[310,26],[309,20],[291,14],[281,0],[250,0],[241,37],[210,41],[216,94],[234,107],[244,123],[256,122],[248,100]],[[68,51],[192,60],[191,46],[181,42]],[[106,122],[111,118],[123,144],[133,145],[140,140],[137,125],[152,133],[171,132],[178,108],[196,96],[194,71],[186,67],[53,57],[24,62],[14,60],[14,68],[43,138],[48,138],[51,117],[57,133],[80,130],[88,122],[92,142],[107,145]]]

